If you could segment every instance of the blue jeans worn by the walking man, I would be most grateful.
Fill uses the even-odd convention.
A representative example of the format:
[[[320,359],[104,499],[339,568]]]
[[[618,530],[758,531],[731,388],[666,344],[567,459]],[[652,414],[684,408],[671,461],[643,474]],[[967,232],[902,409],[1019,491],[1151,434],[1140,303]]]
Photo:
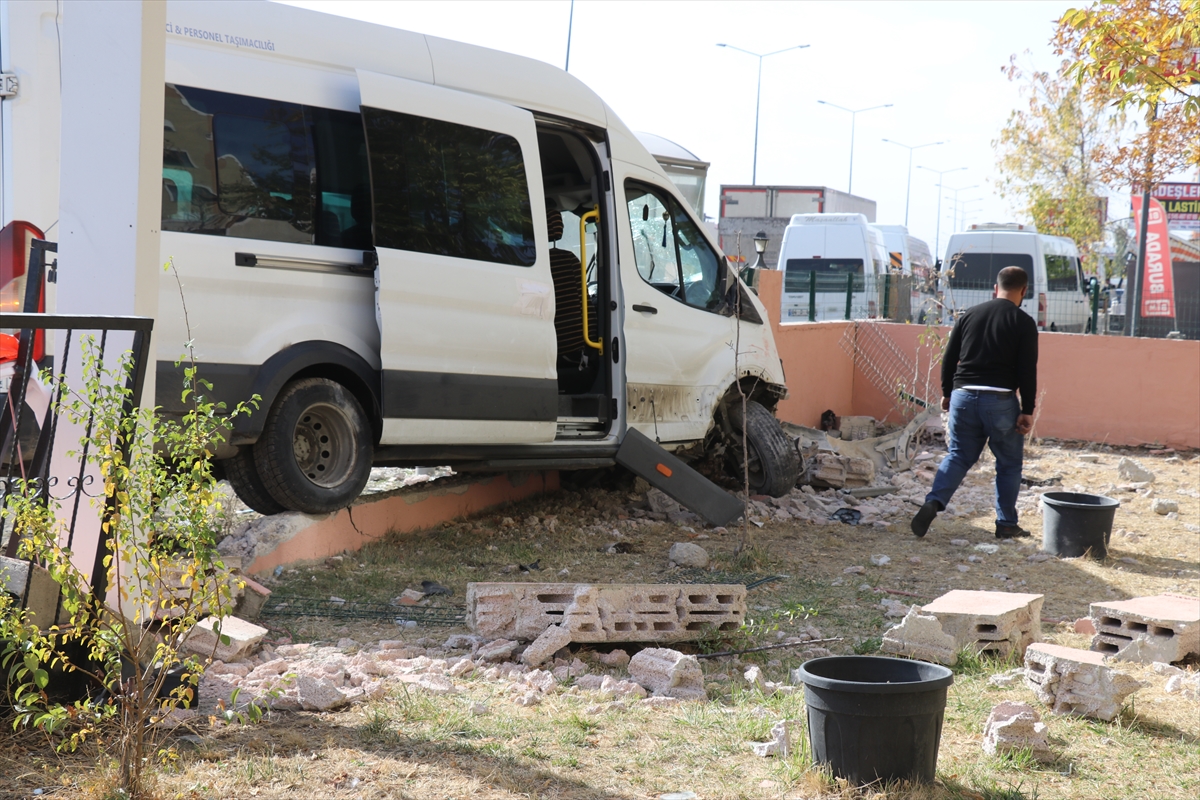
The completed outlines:
[[[950,453],[934,476],[925,501],[944,509],[967,470],[979,461],[986,444],[996,457],[996,524],[1016,524],[1016,495],[1021,491],[1025,437],[1016,432],[1021,407],[1013,392],[980,392],[955,389],[950,395]]]

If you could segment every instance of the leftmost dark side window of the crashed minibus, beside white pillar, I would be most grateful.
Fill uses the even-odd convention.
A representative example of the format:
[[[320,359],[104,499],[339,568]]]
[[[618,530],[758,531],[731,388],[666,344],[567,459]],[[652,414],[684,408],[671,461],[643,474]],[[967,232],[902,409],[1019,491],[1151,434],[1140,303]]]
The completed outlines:
[[[311,243],[311,184],[299,104],[167,85],[163,230]]]

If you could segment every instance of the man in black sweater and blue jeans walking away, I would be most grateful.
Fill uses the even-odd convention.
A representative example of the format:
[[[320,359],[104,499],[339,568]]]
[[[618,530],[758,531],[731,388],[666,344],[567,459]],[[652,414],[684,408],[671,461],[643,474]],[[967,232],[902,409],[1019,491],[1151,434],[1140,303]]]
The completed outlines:
[[[1033,428],[1038,390],[1038,326],[1020,308],[1028,284],[1025,270],[1006,266],[997,276],[996,299],[964,312],[950,331],[942,359],[950,452],[912,518],[918,536],[946,509],[984,444],[996,456],[996,539],[1030,535],[1016,524],[1025,434]]]

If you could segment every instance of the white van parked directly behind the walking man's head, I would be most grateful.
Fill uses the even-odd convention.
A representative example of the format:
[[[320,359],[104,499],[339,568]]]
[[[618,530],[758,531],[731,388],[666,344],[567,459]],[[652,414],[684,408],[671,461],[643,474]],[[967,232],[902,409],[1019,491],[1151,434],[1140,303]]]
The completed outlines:
[[[1087,283],[1075,242],[1015,223],[971,225],[950,236],[941,278],[949,319],[995,297],[996,276],[1006,266],[1020,266],[1030,275],[1021,309],[1039,329],[1090,330]]]

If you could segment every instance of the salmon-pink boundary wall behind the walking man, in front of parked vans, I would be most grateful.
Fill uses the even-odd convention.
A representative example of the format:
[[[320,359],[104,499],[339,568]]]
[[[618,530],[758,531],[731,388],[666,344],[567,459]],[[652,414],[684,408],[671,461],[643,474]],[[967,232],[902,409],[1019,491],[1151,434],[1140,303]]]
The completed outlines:
[[[815,427],[829,408],[899,421],[888,397],[839,344],[852,323],[780,324],[781,279],[780,272],[762,272],[758,291],[787,373],[780,417]],[[876,325],[924,374],[928,348],[917,342],[924,326]],[[1200,447],[1200,342],[1040,333],[1038,347],[1038,393],[1045,392],[1038,435]]]

